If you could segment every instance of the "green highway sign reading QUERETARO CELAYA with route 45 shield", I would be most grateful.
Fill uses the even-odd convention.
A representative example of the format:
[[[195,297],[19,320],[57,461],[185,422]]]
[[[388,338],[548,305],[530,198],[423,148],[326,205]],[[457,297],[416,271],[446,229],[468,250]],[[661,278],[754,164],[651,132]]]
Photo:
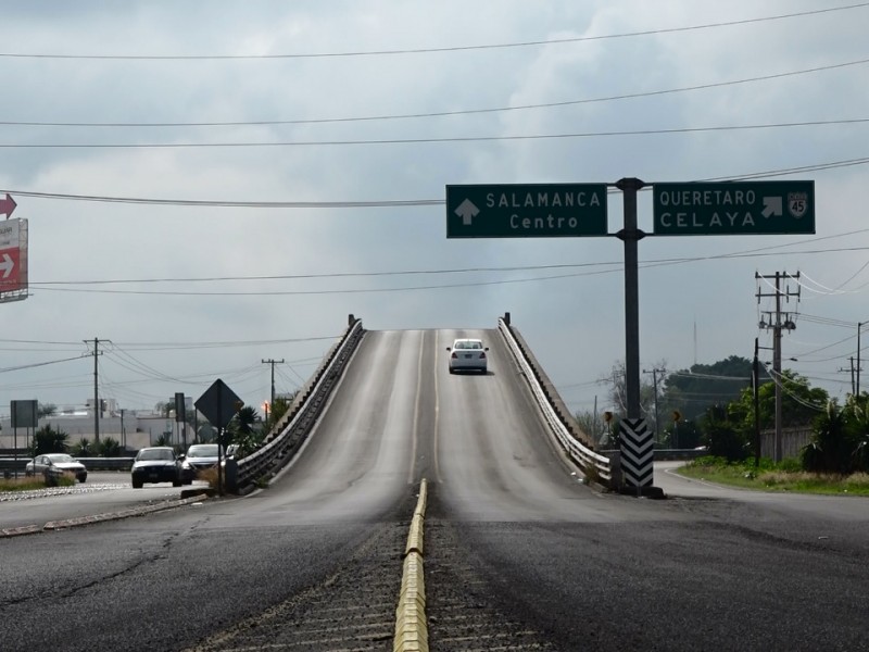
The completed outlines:
[[[815,181],[654,184],[656,236],[815,233]]]

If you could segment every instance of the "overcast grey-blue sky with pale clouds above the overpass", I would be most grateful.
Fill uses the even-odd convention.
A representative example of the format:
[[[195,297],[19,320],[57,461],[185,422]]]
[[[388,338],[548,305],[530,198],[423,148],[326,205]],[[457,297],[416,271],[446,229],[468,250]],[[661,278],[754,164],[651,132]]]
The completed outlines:
[[[58,0],[4,2],[2,23],[0,192],[28,222],[30,291],[0,304],[0,415],[84,405],[95,338],[100,393],[122,408],[218,377],[259,405],[262,360],[294,389],[350,313],[416,329],[506,311],[568,405],[604,409],[625,358],[621,241],[448,239],[443,200],[622,177],[814,180],[815,235],[640,241],[641,364],[771,346],[755,275],[798,272],[785,366],[851,390],[869,322],[869,3]],[[639,226],[653,231],[652,192]]]

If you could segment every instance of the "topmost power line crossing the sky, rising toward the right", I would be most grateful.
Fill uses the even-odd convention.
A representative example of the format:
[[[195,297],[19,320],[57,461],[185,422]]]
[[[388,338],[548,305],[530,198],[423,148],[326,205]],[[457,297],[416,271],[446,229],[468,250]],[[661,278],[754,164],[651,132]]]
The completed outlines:
[[[816,16],[826,13],[849,11],[869,7],[869,2],[817,9],[811,11],[778,14],[756,18],[743,18],[739,21],[727,21],[719,23],[706,23],[702,25],[691,25],[684,27],[668,27],[660,29],[645,29],[642,32],[627,32],[621,34],[608,34],[600,36],[580,36],[574,38],[542,39],[506,43],[484,43],[470,46],[449,46],[441,48],[413,48],[396,50],[363,50],[354,52],[310,52],[295,54],[40,54],[23,52],[0,52],[0,58],[8,59],[66,59],[66,60],[121,60],[121,61],[215,61],[215,60],[269,60],[269,59],[329,59],[329,58],[350,58],[350,57],[388,57],[404,54],[431,54],[441,52],[463,52],[473,50],[494,50],[508,48],[529,48],[539,46],[552,46],[561,43],[577,43],[589,41],[601,41],[619,38],[635,38],[641,36],[654,36],[660,34],[677,34],[682,32],[694,32],[700,29],[713,29],[719,27],[732,27],[736,25],[750,25],[756,23],[767,23],[771,21],[782,21],[786,18],[797,18]]]

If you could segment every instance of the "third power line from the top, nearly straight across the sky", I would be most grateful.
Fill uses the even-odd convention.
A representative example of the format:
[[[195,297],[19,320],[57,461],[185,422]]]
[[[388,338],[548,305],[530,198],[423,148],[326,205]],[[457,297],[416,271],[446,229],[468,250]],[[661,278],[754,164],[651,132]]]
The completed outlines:
[[[449,142],[498,142],[528,140],[566,140],[571,138],[609,138],[620,136],[671,136],[678,134],[708,134],[720,131],[750,131],[757,129],[791,129],[832,125],[869,123],[869,117],[816,120],[791,123],[755,125],[718,125],[710,127],[673,127],[669,129],[625,129],[614,131],[577,131],[570,134],[530,134],[514,136],[450,136],[443,138],[383,138],[361,140],[276,140],[270,142],[0,142],[0,149],[199,149],[199,148],[262,148],[262,147],[355,147],[378,145],[438,145]]]

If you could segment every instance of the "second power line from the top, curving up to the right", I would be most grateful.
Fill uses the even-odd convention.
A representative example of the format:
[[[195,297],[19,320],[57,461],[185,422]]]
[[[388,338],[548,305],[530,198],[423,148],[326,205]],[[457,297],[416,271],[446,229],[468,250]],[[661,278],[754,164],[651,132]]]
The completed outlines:
[[[300,120],[257,120],[257,121],[228,121],[228,122],[40,122],[40,121],[0,121],[3,126],[16,127],[84,127],[84,128],[168,128],[168,127],[261,127],[261,126],[279,126],[279,125],[312,125],[312,124],[336,124],[336,123],[354,123],[354,122],[379,122],[392,120],[418,120],[430,117],[451,117],[457,115],[478,115],[488,113],[502,113],[508,111],[527,111],[537,109],[555,109],[564,106],[576,106],[581,104],[592,104],[600,102],[612,102],[617,100],[630,100],[639,98],[657,97],[665,95],[675,95],[680,92],[689,92],[694,90],[707,90],[710,88],[721,88],[727,86],[735,86],[740,84],[752,84],[756,82],[769,82],[771,79],[781,79],[784,77],[793,77],[797,75],[806,75],[810,73],[819,73],[832,70],[844,68],[854,65],[864,65],[869,63],[869,59],[860,59],[857,61],[848,61],[844,63],[835,63],[824,66],[813,68],[804,68],[799,71],[790,71],[785,73],[774,73],[769,75],[760,75],[756,77],[746,77],[743,79],[732,79],[727,82],[715,82],[709,84],[698,84],[695,86],[683,86],[678,88],[667,88],[659,90],[630,92],[615,96],[604,96],[599,98],[585,98],[579,100],[565,100],[559,102],[544,102],[539,104],[520,104],[517,106],[495,106],[486,109],[464,109],[456,111],[434,111],[426,113],[404,113],[391,115],[365,115],[365,116],[347,116],[347,117],[323,117],[323,118],[300,118]]]

